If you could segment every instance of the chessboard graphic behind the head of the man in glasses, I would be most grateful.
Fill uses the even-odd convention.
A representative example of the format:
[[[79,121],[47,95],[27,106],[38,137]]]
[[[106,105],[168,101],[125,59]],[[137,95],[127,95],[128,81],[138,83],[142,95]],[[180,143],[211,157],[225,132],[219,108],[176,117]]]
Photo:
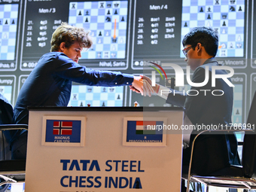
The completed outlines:
[[[210,27],[218,33],[218,57],[244,56],[245,0],[186,0],[182,3],[181,41],[190,29]],[[180,56],[183,45],[181,43]]]

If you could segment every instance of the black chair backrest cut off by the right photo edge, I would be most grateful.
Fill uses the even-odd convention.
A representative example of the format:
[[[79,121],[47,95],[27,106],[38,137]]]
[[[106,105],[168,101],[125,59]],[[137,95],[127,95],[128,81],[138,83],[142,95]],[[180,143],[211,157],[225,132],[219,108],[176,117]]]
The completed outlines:
[[[251,129],[254,129],[254,132],[245,132],[242,148],[242,167],[246,178],[256,178],[256,91],[251,102],[247,124],[251,125]]]

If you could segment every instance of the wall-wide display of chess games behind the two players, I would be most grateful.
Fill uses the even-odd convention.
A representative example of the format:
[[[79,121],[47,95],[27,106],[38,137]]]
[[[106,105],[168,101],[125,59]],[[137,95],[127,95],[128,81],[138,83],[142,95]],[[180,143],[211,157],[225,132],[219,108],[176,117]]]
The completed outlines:
[[[149,77],[150,62],[185,69],[182,39],[194,27],[206,26],[218,33],[216,59],[235,71],[233,121],[242,122],[256,89],[255,13],[254,2],[248,0],[0,1],[0,93],[15,105],[38,59],[50,52],[51,35],[62,22],[90,32],[93,46],[81,54],[81,66]],[[164,69],[175,77],[172,68]],[[166,84],[159,75],[156,82]],[[129,87],[81,84],[73,84],[69,105],[121,107],[136,101],[169,106],[157,96],[132,93]]]

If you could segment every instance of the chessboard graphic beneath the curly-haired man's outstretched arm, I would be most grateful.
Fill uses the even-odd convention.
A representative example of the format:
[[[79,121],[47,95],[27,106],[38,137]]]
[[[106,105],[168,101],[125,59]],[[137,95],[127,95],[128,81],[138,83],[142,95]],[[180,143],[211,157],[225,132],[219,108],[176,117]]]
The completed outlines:
[[[72,85],[69,106],[87,107],[88,104],[92,107],[121,107],[123,87]]]

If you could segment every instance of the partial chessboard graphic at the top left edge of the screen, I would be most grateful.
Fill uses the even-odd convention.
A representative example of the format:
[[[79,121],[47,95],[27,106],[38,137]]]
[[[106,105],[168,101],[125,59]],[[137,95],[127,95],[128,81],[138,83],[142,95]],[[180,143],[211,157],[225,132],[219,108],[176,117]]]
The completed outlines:
[[[18,4],[0,5],[0,60],[14,60]]]

